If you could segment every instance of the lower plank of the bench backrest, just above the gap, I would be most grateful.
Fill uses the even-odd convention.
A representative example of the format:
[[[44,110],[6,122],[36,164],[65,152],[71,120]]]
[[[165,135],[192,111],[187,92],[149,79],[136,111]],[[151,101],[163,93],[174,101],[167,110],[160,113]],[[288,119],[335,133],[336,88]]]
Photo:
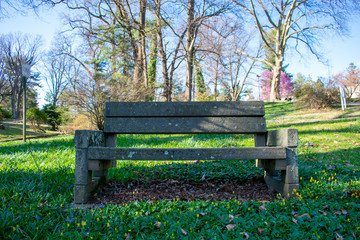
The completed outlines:
[[[264,133],[263,117],[106,118],[105,133]]]

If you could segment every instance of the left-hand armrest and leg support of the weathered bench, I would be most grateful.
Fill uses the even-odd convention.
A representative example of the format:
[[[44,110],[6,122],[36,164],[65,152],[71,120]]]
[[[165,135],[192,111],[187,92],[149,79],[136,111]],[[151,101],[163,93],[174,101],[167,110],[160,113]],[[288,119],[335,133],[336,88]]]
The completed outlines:
[[[100,184],[106,182],[107,169],[94,171],[92,177],[94,167],[88,161],[88,148],[105,146],[105,137],[102,131],[76,130],[74,141],[76,149],[74,202],[82,204],[88,201]]]

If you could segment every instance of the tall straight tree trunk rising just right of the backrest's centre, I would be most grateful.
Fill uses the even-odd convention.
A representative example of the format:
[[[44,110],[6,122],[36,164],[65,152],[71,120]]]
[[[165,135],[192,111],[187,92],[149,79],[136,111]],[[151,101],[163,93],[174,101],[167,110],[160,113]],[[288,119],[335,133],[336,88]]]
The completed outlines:
[[[192,100],[192,81],[193,81],[193,69],[194,69],[194,12],[195,1],[188,1],[188,20],[187,20],[187,32],[186,32],[186,83],[185,83],[185,99],[187,101]]]

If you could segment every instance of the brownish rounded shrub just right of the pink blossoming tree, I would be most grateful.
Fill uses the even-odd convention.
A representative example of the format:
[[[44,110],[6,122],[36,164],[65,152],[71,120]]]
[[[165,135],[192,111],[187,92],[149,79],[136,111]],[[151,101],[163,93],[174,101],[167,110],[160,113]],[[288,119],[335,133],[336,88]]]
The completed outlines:
[[[339,103],[339,90],[333,81],[318,79],[316,82],[305,81],[297,87],[295,92],[297,98],[296,107],[307,108],[329,108]]]

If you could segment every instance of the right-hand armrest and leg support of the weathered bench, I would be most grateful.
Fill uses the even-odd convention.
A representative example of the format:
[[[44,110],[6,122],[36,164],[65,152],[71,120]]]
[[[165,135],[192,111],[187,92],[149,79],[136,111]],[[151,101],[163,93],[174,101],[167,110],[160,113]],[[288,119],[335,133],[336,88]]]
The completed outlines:
[[[279,129],[268,131],[267,135],[256,135],[255,146],[286,147],[286,162],[283,160],[257,160],[257,166],[265,169],[264,179],[270,189],[281,193],[285,198],[295,194],[299,188],[298,173],[298,132],[297,129]],[[278,171],[281,171],[279,176]]]

